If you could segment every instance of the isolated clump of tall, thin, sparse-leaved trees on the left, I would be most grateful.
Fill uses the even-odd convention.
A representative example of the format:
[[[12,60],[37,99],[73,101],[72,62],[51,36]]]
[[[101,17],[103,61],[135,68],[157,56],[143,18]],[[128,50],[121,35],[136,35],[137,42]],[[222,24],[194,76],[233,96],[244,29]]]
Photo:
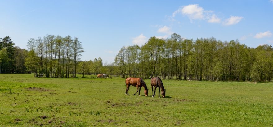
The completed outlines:
[[[27,43],[29,53],[25,66],[28,71],[54,78],[76,76],[77,61],[84,52],[77,37],[46,35],[31,38]]]

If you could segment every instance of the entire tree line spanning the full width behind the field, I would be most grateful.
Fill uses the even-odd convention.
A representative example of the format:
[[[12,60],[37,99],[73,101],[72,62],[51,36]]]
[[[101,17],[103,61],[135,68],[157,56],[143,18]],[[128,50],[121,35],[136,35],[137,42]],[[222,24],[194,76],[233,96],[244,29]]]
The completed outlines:
[[[46,35],[28,40],[28,50],[14,46],[9,36],[0,39],[0,73],[37,73],[69,78],[76,74],[115,74],[122,78],[159,76],[163,79],[206,81],[272,81],[273,48],[250,48],[238,40],[151,37],[142,46],[123,46],[114,63],[99,57],[81,61],[78,38]]]

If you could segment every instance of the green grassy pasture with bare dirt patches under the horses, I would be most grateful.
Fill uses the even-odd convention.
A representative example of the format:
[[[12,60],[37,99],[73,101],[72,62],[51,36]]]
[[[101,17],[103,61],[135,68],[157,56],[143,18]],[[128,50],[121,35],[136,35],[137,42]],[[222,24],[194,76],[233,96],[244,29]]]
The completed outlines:
[[[166,98],[152,98],[150,80],[145,97],[87,76],[0,74],[0,126],[273,126],[273,83],[163,80]]]

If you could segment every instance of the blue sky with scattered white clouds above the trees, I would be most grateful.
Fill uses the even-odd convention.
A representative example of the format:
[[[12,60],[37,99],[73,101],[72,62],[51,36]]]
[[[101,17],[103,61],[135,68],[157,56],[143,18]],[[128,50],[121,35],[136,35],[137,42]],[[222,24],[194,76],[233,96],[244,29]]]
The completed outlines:
[[[257,47],[273,44],[273,0],[50,1],[0,0],[0,37],[27,49],[46,34],[78,37],[82,60],[113,62],[122,46],[142,45],[175,32],[186,39],[238,39]]]

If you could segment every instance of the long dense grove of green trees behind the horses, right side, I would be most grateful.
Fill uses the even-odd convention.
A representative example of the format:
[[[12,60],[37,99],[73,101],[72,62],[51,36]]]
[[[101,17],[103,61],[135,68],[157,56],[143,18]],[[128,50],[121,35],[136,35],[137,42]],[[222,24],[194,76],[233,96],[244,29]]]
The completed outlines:
[[[117,73],[125,78],[272,81],[273,48],[260,45],[250,48],[238,40],[215,38],[184,39],[151,37],[142,46],[123,46],[115,57]]]

